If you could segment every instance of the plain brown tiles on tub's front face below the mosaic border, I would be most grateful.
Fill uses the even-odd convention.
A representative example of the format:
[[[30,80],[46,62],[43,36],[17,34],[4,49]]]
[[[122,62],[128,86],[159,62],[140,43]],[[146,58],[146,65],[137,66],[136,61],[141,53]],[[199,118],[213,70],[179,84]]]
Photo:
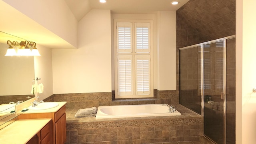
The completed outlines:
[[[66,144],[150,144],[197,141],[200,134],[198,127],[201,125],[150,125],[67,130]]]

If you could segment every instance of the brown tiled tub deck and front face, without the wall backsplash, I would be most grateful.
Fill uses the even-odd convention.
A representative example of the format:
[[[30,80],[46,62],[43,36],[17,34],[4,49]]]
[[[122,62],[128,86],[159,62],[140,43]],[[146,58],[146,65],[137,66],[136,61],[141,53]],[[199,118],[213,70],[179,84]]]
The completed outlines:
[[[79,108],[68,108],[67,144],[150,144],[198,141],[202,116],[180,104],[181,116],[96,119],[75,118]]]

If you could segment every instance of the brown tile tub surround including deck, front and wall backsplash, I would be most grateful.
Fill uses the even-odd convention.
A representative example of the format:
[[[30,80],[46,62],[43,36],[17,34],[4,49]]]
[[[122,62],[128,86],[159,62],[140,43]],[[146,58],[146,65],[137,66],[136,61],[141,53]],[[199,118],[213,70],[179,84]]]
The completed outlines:
[[[178,104],[176,90],[154,90],[154,98],[114,99],[114,92],[54,94],[45,102],[66,101],[67,144],[149,144],[198,141],[202,116]],[[181,116],[75,118],[80,108],[110,105],[172,104]],[[175,143],[176,144],[176,143]]]

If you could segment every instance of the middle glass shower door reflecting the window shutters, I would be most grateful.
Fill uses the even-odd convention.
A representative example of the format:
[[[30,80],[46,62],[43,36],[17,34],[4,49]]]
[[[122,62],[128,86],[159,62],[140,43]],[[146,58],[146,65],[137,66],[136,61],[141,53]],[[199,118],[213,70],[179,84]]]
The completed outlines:
[[[224,144],[225,48],[224,40],[204,44],[204,135]]]

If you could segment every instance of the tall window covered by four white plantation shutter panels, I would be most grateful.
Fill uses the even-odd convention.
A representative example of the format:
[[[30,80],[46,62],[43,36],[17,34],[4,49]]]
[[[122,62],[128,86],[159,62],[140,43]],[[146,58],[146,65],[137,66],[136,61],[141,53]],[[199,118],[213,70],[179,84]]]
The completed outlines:
[[[115,97],[153,97],[151,20],[114,20]]]

